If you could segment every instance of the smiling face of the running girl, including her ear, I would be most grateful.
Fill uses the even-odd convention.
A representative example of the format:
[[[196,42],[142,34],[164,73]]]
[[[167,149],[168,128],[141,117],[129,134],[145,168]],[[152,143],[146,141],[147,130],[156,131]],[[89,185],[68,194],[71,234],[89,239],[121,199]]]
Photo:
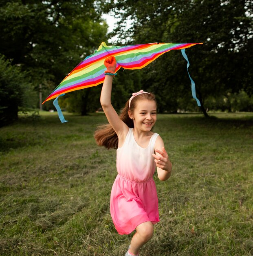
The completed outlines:
[[[134,112],[129,111],[129,117],[134,120],[134,128],[150,131],[156,123],[156,102],[139,100],[136,102]]]

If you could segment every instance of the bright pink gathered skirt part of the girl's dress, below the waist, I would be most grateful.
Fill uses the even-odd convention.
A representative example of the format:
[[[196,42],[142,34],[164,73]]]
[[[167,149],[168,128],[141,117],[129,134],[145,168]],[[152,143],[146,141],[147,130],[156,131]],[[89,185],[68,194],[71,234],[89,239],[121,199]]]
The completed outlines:
[[[118,174],[112,186],[110,212],[114,226],[121,235],[130,234],[143,222],[159,222],[158,198],[153,178],[135,182]]]

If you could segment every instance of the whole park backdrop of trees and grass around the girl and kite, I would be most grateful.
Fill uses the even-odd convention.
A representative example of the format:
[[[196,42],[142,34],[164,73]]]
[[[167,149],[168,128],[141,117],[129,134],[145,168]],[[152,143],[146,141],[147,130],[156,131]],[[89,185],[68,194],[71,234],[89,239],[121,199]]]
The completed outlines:
[[[132,92],[158,101],[154,129],[174,171],[156,175],[161,222],[144,255],[253,254],[251,1],[0,1],[0,254],[123,255],[131,240],[110,218],[116,153],[95,144],[106,122],[101,85],[44,100],[68,72],[108,45],[192,42],[189,72],[171,51],[119,70],[112,102]],[[103,17],[117,18],[108,32]]]

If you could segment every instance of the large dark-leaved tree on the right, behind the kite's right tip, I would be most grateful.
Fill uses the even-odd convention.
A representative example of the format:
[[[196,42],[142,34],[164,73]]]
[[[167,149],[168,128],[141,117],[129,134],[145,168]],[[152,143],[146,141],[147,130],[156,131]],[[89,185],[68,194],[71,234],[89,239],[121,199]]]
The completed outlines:
[[[122,0],[104,5],[104,11],[113,10],[121,17],[115,33],[120,38],[131,35],[131,43],[150,42],[203,42],[187,54],[191,65],[190,73],[196,82],[197,96],[201,109],[207,116],[205,101],[209,96],[225,94],[228,90],[241,89],[251,94],[252,85],[252,8],[250,0]],[[124,27],[130,18],[132,27]],[[129,43],[129,42],[128,42]],[[166,94],[165,104],[173,102],[175,96],[190,93],[185,61],[178,53],[158,58],[159,64],[146,68],[152,79],[152,89],[160,83],[159,97]],[[149,74],[149,75],[147,75]],[[155,74],[155,77],[151,77]],[[177,103],[174,101],[173,106]]]

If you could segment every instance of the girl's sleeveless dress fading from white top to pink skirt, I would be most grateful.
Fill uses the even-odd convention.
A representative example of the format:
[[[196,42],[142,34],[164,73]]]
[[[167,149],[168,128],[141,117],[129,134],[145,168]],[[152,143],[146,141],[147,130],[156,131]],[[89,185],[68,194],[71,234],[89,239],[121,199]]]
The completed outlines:
[[[117,149],[118,175],[114,181],[110,199],[110,212],[119,234],[130,234],[138,225],[159,222],[158,198],[153,180],[154,133],[146,148],[139,146],[129,128],[121,148]]]

